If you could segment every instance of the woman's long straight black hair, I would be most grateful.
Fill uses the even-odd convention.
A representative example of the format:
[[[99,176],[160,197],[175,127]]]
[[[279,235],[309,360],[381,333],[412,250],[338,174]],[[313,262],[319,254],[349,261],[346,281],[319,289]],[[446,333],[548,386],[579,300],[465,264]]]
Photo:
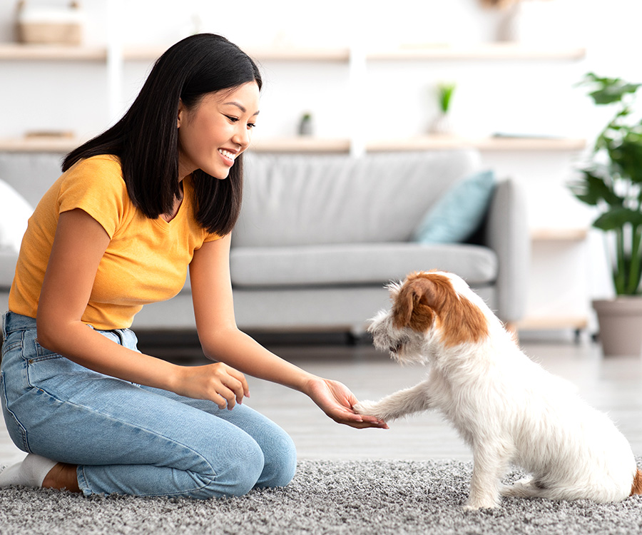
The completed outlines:
[[[127,193],[148,218],[170,213],[180,197],[178,104],[198,105],[206,93],[255,81],[255,62],[222,36],[198,34],[171,46],[154,64],[141,92],[118,123],[65,157],[66,171],[83,158],[113,154],[121,160]],[[225,180],[195,170],[195,218],[211,233],[229,233],[243,197],[243,155]]]

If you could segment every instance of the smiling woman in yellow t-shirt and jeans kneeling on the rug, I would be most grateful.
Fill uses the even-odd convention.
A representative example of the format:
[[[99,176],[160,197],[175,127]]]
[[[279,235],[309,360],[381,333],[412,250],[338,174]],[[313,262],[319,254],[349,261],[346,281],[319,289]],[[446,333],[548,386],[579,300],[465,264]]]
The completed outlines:
[[[242,404],[245,373],[305,392],[336,422],[385,427],[235,325],[230,231],[260,88],[237,46],[188,37],[121,121],[66,157],[29,220],[4,317],[0,397],[29,454],[0,486],[203,499],[283,486],[292,440]],[[128,329],[188,267],[203,352],[218,361],[197,367],[141,354]]]

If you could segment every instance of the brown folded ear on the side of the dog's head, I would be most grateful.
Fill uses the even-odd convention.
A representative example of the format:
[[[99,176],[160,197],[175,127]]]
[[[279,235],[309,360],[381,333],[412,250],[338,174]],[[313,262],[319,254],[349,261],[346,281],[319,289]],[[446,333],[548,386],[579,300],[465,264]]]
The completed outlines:
[[[392,325],[400,329],[411,327],[417,331],[424,331],[432,325],[437,288],[432,280],[417,277],[408,280],[399,292],[392,305]]]

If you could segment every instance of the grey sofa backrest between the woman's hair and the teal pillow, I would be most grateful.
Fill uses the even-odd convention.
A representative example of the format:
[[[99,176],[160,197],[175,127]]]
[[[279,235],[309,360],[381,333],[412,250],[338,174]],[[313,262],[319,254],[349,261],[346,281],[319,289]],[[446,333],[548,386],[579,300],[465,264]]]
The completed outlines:
[[[473,150],[244,158],[233,247],[406,241],[429,206],[480,165]]]

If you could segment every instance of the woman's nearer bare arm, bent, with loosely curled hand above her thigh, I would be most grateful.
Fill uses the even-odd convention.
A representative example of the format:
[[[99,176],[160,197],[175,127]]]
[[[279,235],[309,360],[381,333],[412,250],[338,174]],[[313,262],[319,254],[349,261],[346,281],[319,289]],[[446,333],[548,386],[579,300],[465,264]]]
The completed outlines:
[[[61,213],[38,305],[39,343],[119,379],[211,399],[221,408],[241,402],[248,384],[243,374],[227,365],[173,365],[118,345],[81,321],[108,244],[108,234],[88,213],[80,209]]]

